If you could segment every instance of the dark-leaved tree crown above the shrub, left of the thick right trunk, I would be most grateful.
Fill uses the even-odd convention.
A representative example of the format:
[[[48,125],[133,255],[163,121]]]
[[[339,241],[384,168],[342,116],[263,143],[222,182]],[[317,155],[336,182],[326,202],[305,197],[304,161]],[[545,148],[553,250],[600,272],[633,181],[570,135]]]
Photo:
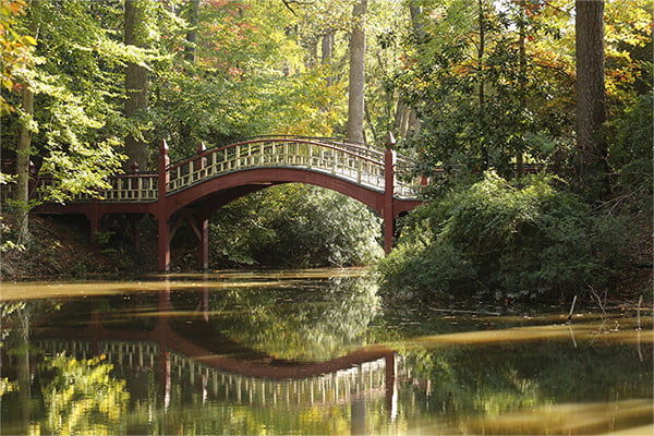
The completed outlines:
[[[565,100],[550,101],[561,94],[550,72],[562,66],[531,43],[548,37],[542,15],[508,1],[425,2],[407,41],[412,56],[393,80],[422,121],[404,146],[425,166],[510,175],[517,154],[543,159],[543,144],[565,134]]]

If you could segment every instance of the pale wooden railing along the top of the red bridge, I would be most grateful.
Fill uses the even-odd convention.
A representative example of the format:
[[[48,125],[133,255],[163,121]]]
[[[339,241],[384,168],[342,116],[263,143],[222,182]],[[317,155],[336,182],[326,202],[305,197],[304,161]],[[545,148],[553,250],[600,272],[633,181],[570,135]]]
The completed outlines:
[[[218,147],[169,165],[167,193],[174,193],[220,174],[252,168],[302,168],[323,172],[353,183],[384,191],[385,148],[348,140],[313,138],[305,136],[263,136],[238,144]],[[415,197],[420,192],[420,179],[405,178],[413,162],[398,156],[395,171],[393,195]],[[78,193],[74,202],[156,202],[159,196],[157,174],[133,173],[112,175],[107,179],[108,189],[93,193]],[[48,189],[61,189],[61,181],[39,175],[32,185],[33,198],[51,201]]]

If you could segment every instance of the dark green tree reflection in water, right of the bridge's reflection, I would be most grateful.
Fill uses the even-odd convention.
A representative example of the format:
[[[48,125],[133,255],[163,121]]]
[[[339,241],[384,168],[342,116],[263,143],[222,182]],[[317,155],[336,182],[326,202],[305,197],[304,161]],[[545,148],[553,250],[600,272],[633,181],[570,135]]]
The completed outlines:
[[[401,413],[411,420],[427,410],[453,423],[462,416],[495,420],[509,411],[562,403],[652,399],[652,346],[647,348],[644,361],[633,346],[574,347],[571,341],[408,351],[400,404],[422,407]],[[534,413],[532,419],[546,429],[544,416]],[[639,419],[651,423],[651,413],[634,416]],[[601,420],[608,423],[610,416]]]

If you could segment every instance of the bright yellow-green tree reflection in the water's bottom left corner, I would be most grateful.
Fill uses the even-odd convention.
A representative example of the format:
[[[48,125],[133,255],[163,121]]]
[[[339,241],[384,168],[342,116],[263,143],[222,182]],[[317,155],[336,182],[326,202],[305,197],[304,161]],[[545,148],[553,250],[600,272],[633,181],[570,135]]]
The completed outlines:
[[[31,344],[32,329],[59,313],[57,301],[1,306],[3,434],[124,433],[129,393],[102,358],[44,356]],[[41,384],[43,382],[43,384]]]

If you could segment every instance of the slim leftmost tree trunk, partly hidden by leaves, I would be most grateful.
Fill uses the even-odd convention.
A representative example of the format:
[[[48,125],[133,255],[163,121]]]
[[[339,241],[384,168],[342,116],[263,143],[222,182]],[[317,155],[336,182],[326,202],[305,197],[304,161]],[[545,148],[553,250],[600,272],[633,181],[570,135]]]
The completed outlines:
[[[29,34],[38,40],[38,27],[40,23],[40,0],[32,0],[29,13]],[[16,226],[19,230],[19,243],[26,242],[29,238],[29,155],[32,148],[32,131],[29,123],[34,114],[34,89],[29,83],[23,83],[21,95],[21,110],[25,113],[25,122],[21,123],[19,131],[19,143],[16,147],[16,196],[20,205],[16,210]]]

